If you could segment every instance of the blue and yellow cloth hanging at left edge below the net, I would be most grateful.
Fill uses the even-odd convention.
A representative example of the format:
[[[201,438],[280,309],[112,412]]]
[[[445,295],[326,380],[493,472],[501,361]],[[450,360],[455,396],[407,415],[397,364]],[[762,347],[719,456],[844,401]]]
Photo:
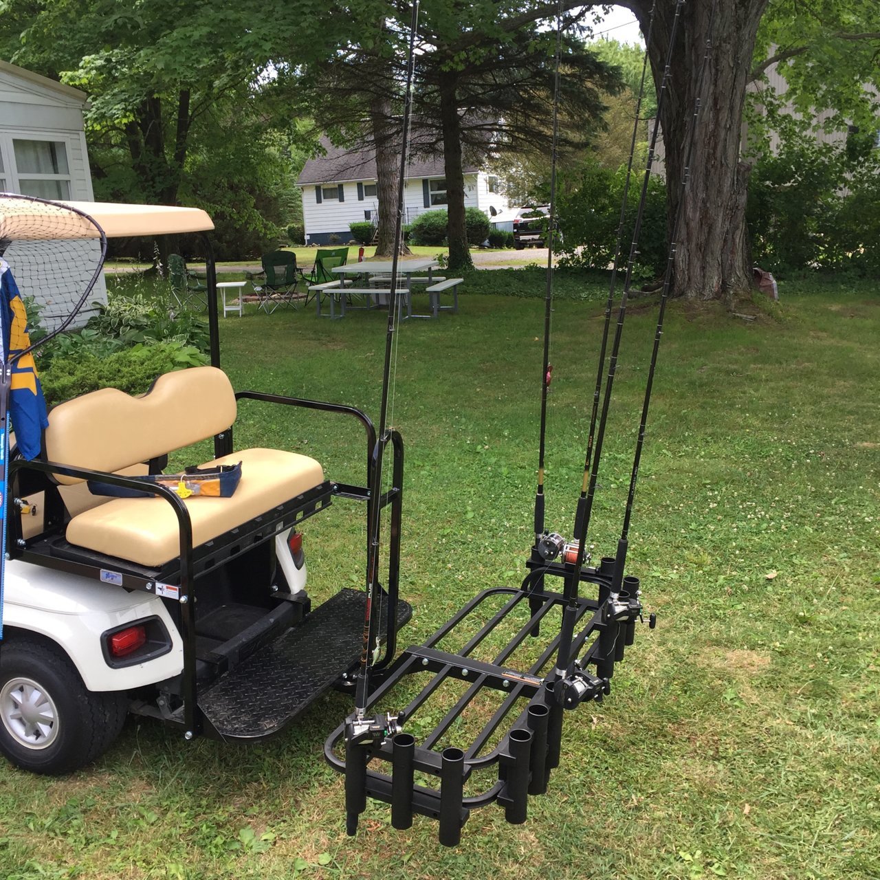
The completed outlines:
[[[6,360],[12,363],[12,388],[9,400],[11,428],[15,432],[18,450],[28,460],[40,454],[42,432],[48,428],[46,400],[33,355],[18,357],[29,348],[27,313],[18,284],[12,277],[9,263],[0,258],[0,313],[3,318],[3,348]]]

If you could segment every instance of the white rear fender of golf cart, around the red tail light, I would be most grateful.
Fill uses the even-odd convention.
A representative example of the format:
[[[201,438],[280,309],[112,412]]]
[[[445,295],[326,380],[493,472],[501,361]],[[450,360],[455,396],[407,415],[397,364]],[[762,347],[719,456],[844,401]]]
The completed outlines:
[[[101,635],[148,618],[162,622],[171,650],[141,664],[109,666]],[[3,622],[4,640],[18,630],[55,642],[90,691],[127,691],[172,678],[183,669],[183,642],[160,598],[68,572],[7,562]]]

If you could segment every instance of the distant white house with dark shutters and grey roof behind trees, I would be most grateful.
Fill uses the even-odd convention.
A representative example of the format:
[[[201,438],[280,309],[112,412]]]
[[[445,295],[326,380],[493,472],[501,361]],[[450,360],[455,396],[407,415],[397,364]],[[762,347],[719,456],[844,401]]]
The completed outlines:
[[[309,159],[297,185],[303,194],[305,243],[328,245],[351,239],[348,224],[378,216],[376,156],[373,150],[348,150],[322,140],[326,155]],[[498,178],[477,165],[465,165],[465,207],[488,216],[507,209]],[[407,174],[404,222],[423,211],[445,209],[443,157],[414,158]]]

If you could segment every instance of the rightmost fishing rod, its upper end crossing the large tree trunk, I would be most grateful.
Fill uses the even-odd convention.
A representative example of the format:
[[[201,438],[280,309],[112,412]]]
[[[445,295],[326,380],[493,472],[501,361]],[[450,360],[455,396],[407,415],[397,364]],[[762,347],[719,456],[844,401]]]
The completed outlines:
[[[715,6],[709,13],[707,36],[702,61],[700,62],[700,71],[697,74],[696,96],[693,103],[693,116],[691,119],[691,131],[688,135],[687,155],[685,158],[685,169],[681,179],[681,191],[678,196],[678,205],[675,211],[675,220],[672,224],[672,235],[669,248],[669,257],[666,262],[666,272],[664,275],[663,292],[660,295],[660,310],[657,314],[656,332],[654,334],[654,348],[651,352],[651,361],[648,370],[648,381],[645,385],[645,398],[642,402],[642,420],[639,423],[639,434],[635,442],[635,454],[633,458],[633,470],[629,478],[629,491],[627,493],[627,510],[623,517],[623,527],[620,531],[620,541],[623,544],[623,556],[626,558],[627,543],[629,538],[629,521],[633,515],[633,505],[635,500],[635,484],[639,478],[639,465],[642,461],[642,448],[645,443],[645,429],[648,423],[648,411],[651,402],[651,391],[654,386],[654,373],[656,371],[657,354],[660,350],[660,339],[663,336],[664,315],[666,312],[666,303],[669,300],[669,294],[672,286],[672,276],[675,274],[675,257],[678,250],[678,232],[681,227],[681,219],[685,213],[685,193],[691,177],[691,162],[693,160],[693,145],[696,143],[697,123],[700,120],[700,110],[702,109],[702,99],[700,95],[703,91],[703,80],[708,69],[709,55],[712,51],[712,26],[715,20]],[[622,566],[621,566],[622,569]]]

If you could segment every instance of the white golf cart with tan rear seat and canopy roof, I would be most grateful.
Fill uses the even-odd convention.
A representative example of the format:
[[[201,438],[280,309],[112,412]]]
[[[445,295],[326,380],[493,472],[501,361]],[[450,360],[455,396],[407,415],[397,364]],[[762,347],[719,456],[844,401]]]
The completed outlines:
[[[15,218],[0,238],[16,271]],[[34,202],[38,210],[40,202]],[[80,203],[107,237],[201,233],[207,262],[211,366],[160,376],[150,392],[84,394],[48,415],[40,457],[13,445],[8,561],[0,642],[0,752],[17,766],[62,774],[114,741],[127,712],[198,735],[258,740],[282,730],[339,685],[361,655],[365,595],[344,589],[312,610],[297,526],[344,496],[390,505],[385,622],[397,600],[403,451],[392,437],[393,488],[370,491],[376,432],[352,407],[235,392],[219,369],[216,270],[202,210]],[[17,210],[20,213],[20,205]],[[6,219],[9,219],[7,216]],[[51,235],[47,233],[47,238]],[[29,233],[33,246],[33,231]],[[18,276],[22,294],[26,278]],[[294,451],[235,451],[239,403],[348,415],[366,433],[364,486],[327,480]],[[213,437],[211,466],[241,463],[230,497],[182,499],[159,483],[173,451]],[[92,495],[89,481],[150,497]],[[386,637],[387,664],[395,650]],[[378,654],[377,654],[378,656]]]

